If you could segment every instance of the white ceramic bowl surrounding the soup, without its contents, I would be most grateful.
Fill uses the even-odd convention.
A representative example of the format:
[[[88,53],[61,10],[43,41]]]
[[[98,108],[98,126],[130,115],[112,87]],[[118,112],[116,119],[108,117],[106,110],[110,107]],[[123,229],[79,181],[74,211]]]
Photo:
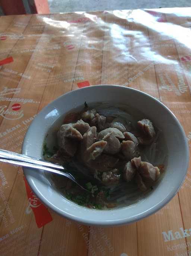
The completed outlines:
[[[168,157],[166,171],[159,185],[144,200],[125,208],[92,210],[63,198],[50,186],[43,172],[24,168],[33,192],[58,214],[87,225],[122,225],[136,222],[162,208],[177,193],[188,168],[188,143],[184,130],[172,112],[154,97],[141,91],[116,85],[96,85],[66,93],[48,104],[32,121],[22,147],[22,154],[43,158],[42,145],[52,123],[84,102],[128,103],[163,131]]]

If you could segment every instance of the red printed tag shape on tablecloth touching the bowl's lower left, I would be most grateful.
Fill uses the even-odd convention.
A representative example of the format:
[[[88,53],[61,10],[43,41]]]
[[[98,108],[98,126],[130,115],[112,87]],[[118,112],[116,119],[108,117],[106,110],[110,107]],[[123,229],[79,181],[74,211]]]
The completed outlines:
[[[37,226],[38,228],[41,228],[53,220],[52,216],[49,213],[48,209],[34,195],[25,177],[24,177],[24,181],[25,181],[26,193],[28,196],[28,207],[26,208],[26,214],[31,213],[31,210],[32,210],[34,213]]]

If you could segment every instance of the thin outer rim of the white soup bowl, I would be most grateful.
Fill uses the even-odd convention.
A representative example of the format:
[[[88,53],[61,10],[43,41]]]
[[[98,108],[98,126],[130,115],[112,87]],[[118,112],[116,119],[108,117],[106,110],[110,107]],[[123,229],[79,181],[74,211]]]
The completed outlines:
[[[130,223],[134,223],[137,222],[138,220],[144,219],[145,217],[150,216],[151,214],[156,213],[158,210],[160,210],[161,208],[163,208],[178,192],[178,190],[181,188],[182,183],[185,180],[185,177],[187,175],[187,170],[188,170],[188,165],[189,165],[189,146],[188,146],[188,142],[187,142],[187,137],[185,135],[184,129],[182,127],[182,125],[180,124],[178,118],[173,114],[172,111],[170,111],[169,108],[167,108],[167,106],[165,106],[162,102],[160,102],[158,99],[156,99],[155,97],[151,96],[150,94],[147,94],[143,91],[137,90],[135,88],[131,88],[131,87],[126,87],[123,85],[112,85],[112,84],[101,84],[101,85],[90,85],[88,87],[83,87],[83,88],[79,88],[79,89],[75,89],[72,91],[69,91],[67,93],[64,93],[62,95],[60,95],[59,97],[57,97],[56,99],[54,99],[53,101],[51,101],[48,105],[46,105],[43,109],[41,109],[40,112],[37,113],[36,117],[38,115],[40,115],[41,113],[43,113],[44,111],[46,111],[51,105],[53,106],[54,103],[59,100],[60,98],[62,98],[63,96],[67,96],[68,94],[72,94],[74,91],[76,90],[91,90],[90,88],[99,88],[99,87],[117,87],[117,88],[125,88],[126,90],[132,90],[132,91],[137,91],[138,93],[141,93],[147,97],[150,97],[151,99],[153,99],[156,103],[160,104],[163,108],[166,109],[166,111],[172,116],[172,118],[175,120],[176,124],[179,127],[179,131],[181,132],[182,137],[184,138],[184,149],[185,149],[185,165],[184,165],[184,169],[182,172],[182,180],[179,181],[178,186],[174,187],[174,189],[171,190],[171,192],[165,197],[165,199],[163,199],[163,201],[159,202],[155,207],[150,208],[147,210],[147,213],[142,212],[140,214],[137,214],[135,216],[132,217],[128,217],[126,219],[117,219],[117,220],[88,220],[88,219],[81,219],[81,217],[78,217],[77,214],[75,216],[73,216],[72,214],[68,214],[66,212],[61,211],[59,208],[57,208],[56,206],[52,205],[46,198],[44,198],[44,196],[41,193],[38,193],[38,190],[35,187],[35,184],[33,182],[31,182],[31,178],[30,175],[26,174],[26,169],[27,168],[23,168],[24,171],[24,175],[25,178],[27,180],[27,182],[29,183],[29,186],[31,187],[32,191],[34,192],[34,194],[40,199],[41,202],[43,202],[44,205],[46,205],[48,208],[50,208],[51,210],[55,211],[56,213],[58,213],[59,215],[65,217],[66,219],[71,219],[73,221],[76,221],[78,223],[82,223],[84,225],[99,225],[99,226],[116,226],[116,225],[127,225]],[[36,118],[35,117],[35,118]],[[29,137],[29,133],[31,130],[32,125],[35,122],[35,118],[34,120],[31,122],[31,124],[28,127],[28,130],[25,134],[24,137],[24,141],[22,144],[22,154],[26,153],[26,144],[28,143],[28,137]],[[82,207],[81,207],[82,208]],[[84,207],[83,207],[84,208]],[[116,209],[115,209],[116,210]],[[95,211],[95,210],[94,210]],[[96,211],[103,211],[103,210],[96,210]],[[109,211],[114,211],[114,210],[109,210]]]

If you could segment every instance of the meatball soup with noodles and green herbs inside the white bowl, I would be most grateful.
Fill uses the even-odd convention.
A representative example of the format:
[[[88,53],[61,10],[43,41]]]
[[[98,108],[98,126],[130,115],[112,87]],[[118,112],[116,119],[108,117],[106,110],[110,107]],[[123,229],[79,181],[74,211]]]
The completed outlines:
[[[132,205],[149,195],[164,172],[162,131],[136,109],[95,103],[66,114],[46,136],[43,155],[67,167],[88,191],[60,175],[51,184],[93,209]]]

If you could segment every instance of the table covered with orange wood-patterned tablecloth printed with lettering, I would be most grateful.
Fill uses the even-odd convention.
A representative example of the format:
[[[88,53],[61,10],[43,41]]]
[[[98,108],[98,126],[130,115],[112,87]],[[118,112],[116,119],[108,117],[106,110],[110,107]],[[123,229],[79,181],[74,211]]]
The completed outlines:
[[[161,100],[191,145],[191,8],[0,17],[0,148],[20,153],[35,115],[84,86],[133,87]],[[178,147],[178,145],[177,145]],[[191,171],[152,216],[99,228],[66,220],[0,164],[0,255],[191,255]]]

